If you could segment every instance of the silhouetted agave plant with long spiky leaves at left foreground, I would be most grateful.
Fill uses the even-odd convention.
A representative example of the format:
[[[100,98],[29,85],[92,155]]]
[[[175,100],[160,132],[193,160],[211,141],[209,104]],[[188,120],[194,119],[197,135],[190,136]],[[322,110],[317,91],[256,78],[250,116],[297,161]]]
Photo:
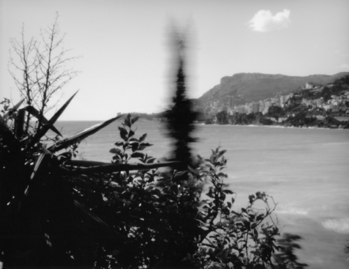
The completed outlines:
[[[39,118],[40,113],[32,106],[20,108],[23,101],[8,109],[3,117],[0,115],[0,252],[3,254],[0,261],[3,260],[8,266],[75,264],[77,257],[70,255],[70,250],[74,248],[81,250],[81,255],[85,255],[81,260],[86,263],[95,259],[94,256],[87,256],[94,253],[95,249],[84,249],[94,245],[88,241],[96,240],[91,231],[96,231],[98,238],[122,240],[124,235],[115,231],[108,221],[91,210],[94,208],[91,204],[93,195],[87,197],[80,189],[87,189],[96,175],[149,170],[178,163],[103,163],[72,159],[72,149],[81,140],[121,116],[91,126],[69,138],[61,138],[46,148],[43,138],[48,130],[62,136],[54,123],[75,94],[52,118],[41,117],[43,125],[40,129],[28,131],[26,128],[25,124],[29,122],[25,119],[26,115]],[[14,126],[8,125],[9,119],[13,119]],[[128,124],[130,120],[131,116],[128,115],[125,123]],[[137,147],[135,143],[138,143]],[[142,141],[130,138],[126,147],[139,151],[144,145],[147,146]],[[61,152],[64,149],[68,150]],[[138,152],[134,157],[141,155]]]

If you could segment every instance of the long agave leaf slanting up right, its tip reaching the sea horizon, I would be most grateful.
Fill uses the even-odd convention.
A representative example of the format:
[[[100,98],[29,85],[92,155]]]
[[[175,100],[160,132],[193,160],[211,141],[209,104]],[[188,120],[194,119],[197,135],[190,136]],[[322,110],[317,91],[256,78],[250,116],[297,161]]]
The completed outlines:
[[[105,126],[119,119],[119,117],[122,117],[122,115],[118,117],[113,117],[112,119],[108,119],[107,121],[91,126],[88,129],[84,129],[84,131],[80,131],[79,133],[76,133],[74,136],[70,136],[70,138],[66,138],[59,145],[53,145],[52,147],[49,147],[48,150],[50,150],[50,152],[58,152],[59,150],[69,147],[70,145],[73,145],[83,140],[84,138],[91,136],[97,131],[103,129]]]

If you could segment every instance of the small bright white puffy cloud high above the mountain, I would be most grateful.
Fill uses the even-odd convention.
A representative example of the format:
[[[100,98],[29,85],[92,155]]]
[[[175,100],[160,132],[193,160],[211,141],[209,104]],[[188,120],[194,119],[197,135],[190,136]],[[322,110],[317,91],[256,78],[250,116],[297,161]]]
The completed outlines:
[[[259,10],[247,24],[253,31],[265,33],[287,28],[290,23],[290,10],[284,9],[283,12],[276,13],[274,16],[270,10]]]

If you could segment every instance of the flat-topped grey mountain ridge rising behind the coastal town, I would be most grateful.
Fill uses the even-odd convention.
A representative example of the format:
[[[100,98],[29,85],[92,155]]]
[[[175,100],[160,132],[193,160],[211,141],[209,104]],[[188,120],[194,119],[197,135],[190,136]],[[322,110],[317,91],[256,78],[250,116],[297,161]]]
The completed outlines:
[[[199,99],[193,101],[203,105],[208,101],[215,101],[224,96],[235,96],[238,103],[260,101],[276,96],[295,92],[306,82],[326,85],[334,82],[337,78],[348,75],[349,72],[335,75],[308,75],[305,77],[290,75],[269,75],[262,73],[237,73],[232,76],[221,78],[221,83],[205,92]]]

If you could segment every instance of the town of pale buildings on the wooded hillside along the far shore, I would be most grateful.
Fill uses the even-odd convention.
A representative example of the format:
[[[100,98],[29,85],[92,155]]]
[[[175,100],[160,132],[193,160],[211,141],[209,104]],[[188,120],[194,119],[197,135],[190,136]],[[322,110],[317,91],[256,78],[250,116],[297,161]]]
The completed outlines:
[[[235,104],[235,96],[222,96],[193,109],[206,124],[348,128],[349,75],[328,85],[307,82],[290,94],[244,105]]]

